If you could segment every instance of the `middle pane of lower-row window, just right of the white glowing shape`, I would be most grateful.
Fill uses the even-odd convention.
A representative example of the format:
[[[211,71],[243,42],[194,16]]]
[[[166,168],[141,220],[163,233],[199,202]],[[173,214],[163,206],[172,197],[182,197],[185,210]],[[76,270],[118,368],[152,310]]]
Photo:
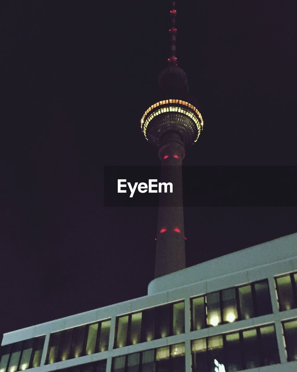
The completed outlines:
[[[241,371],[242,358],[241,358],[241,344],[239,339],[239,332],[226,334],[226,366],[228,372]]]

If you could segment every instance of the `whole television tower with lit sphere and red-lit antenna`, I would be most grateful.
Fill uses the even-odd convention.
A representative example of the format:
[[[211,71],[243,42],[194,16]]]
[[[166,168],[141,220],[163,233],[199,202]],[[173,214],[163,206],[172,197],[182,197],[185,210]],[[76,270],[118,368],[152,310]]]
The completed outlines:
[[[198,140],[203,119],[189,94],[187,75],[177,67],[175,1],[170,10],[170,57],[159,74],[159,97],[141,118],[146,140],[159,149],[161,182],[172,182],[173,193],[160,193],[155,278],[185,269],[182,161],[185,149]]]

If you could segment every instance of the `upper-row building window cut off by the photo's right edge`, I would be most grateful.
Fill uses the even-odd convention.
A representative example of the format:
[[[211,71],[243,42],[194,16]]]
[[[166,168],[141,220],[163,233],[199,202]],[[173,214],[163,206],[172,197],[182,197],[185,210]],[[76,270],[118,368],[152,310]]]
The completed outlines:
[[[275,278],[278,307],[280,311],[296,309],[297,307],[297,273]]]

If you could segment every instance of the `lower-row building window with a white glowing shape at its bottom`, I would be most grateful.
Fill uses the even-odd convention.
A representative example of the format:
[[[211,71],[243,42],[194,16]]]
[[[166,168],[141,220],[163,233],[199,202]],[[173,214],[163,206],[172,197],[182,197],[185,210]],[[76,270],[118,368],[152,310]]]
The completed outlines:
[[[280,363],[274,325],[192,341],[193,372],[235,372]]]

